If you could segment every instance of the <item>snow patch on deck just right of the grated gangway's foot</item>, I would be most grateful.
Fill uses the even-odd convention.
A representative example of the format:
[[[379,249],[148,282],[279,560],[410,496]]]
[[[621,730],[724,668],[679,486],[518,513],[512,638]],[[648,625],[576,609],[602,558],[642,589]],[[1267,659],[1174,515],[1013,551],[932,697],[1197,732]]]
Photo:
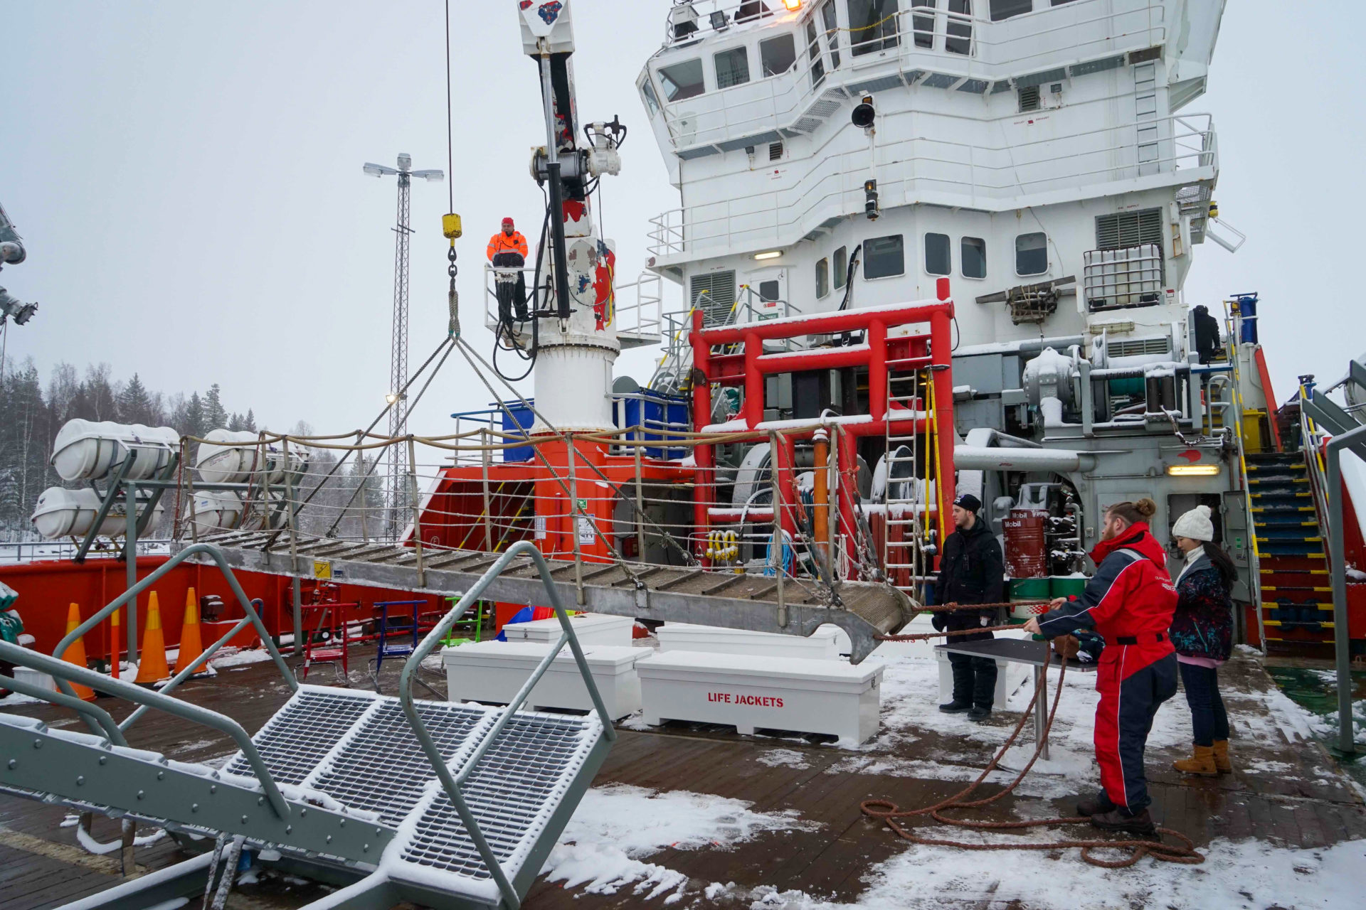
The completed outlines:
[[[583,885],[589,894],[616,894],[623,888],[642,900],[684,896],[688,879],[680,872],[645,862],[664,847],[721,849],[750,840],[765,831],[816,830],[792,812],[751,812],[742,799],[673,790],[611,784],[593,787],[566,825],[560,842],[542,868],[550,881],[566,888]],[[708,888],[708,895],[720,894]]]

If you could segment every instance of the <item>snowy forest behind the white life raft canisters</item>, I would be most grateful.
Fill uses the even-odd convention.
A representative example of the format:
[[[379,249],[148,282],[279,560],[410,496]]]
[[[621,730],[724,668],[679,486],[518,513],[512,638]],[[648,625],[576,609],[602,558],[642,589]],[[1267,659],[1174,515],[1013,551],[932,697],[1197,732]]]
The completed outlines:
[[[137,372],[126,378],[115,377],[108,363],[87,364],[83,370],[59,363],[46,381],[31,360],[7,364],[0,381],[0,540],[36,539],[29,516],[38,494],[52,486],[74,486],[63,484],[49,464],[52,442],[67,420],[85,417],[173,427],[183,437],[202,437],[217,428],[264,428],[257,427],[250,405],[229,409],[224,397],[217,383],[206,392],[189,394],[148,389]],[[302,420],[287,431],[295,435],[313,432]],[[309,472],[301,483],[305,495],[332,469],[342,453],[313,449],[309,454]],[[373,461],[348,460],[301,514],[301,529],[326,531],[372,468]],[[378,509],[384,501],[378,472],[365,480],[365,494],[355,497],[352,508],[336,528],[342,536],[361,535],[358,509],[362,503]],[[167,501],[167,514],[150,536],[171,535],[172,502]]]

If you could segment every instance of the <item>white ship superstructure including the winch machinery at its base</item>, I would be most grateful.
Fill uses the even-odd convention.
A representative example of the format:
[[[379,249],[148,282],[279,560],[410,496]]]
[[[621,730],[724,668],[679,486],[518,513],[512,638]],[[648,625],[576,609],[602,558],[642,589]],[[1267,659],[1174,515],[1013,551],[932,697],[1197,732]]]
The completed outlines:
[[[1246,527],[1223,423],[1239,371],[1198,355],[1182,296],[1197,244],[1235,248],[1216,232],[1213,124],[1187,111],[1223,7],[676,3],[637,83],[680,195],[650,266],[710,326],[951,296],[958,486],[993,523],[1046,499],[1075,524],[1053,572],[1081,565],[1109,502],[1153,495],[1162,523],[1223,501]],[[1218,330],[1199,319],[1208,353]],[[688,366],[676,345],[654,386],[686,387]],[[764,419],[863,413],[867,374],[836,372],[769,378]],[[887,476],[892,447],[863,439],[859,457]],[[1048,452],[1026,465],[1022,447]]]

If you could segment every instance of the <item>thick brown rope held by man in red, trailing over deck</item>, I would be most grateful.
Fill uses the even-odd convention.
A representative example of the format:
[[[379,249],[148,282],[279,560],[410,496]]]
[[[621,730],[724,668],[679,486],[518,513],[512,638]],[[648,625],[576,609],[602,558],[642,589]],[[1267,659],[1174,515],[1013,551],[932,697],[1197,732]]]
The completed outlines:
[[[1019,626],[1007,626],[1019,628]],[[988,632],[989,629],[968,629],[967,632]],[[903,641],[910,639],[928,639],[928,637],[941,637],[955,634],[952,632],[937,632],[933,636],[882,636],[884,640]],[[1101,866],[1104,869],[1124,869],[1132,866],[1143,857],[1153,857],[1154,860],[1161,860],[1162,862],[1180,862],[1186,865],[1198,865],[1205,862],[1205,855],[1195,849],[1195,842],[1180,831],[1172,828],[1158,827],[1158,835],[1172,835],[1179,845],[1162,843],[1161,840],[1150,840],[1142,838],[1126,838],[1117,840],[1049,840],[1046,843],[1029,843],[1029,842],[989,842],[989,843],[966,843],[962,840],[948,840],[944,838],[925,838],[912,834],[906,827],[903,827],[899,819],[914,819],[919,816],[929,816],[938,824],[953,825],[959,828],[970,828],[974,831],[1018,831],[1023,828],[1038,828],[1044,825],[1065,825],[1065,824],[1090,824],[1090,819],[1086,816],[1071,816],[1059,819],[1035,819],[1031,821],[968,821],[967,819],[951,819],[943,814],[948,809],[977,809],[985,805],[990,805],[1011,793],[1020,784],[1024,776],[1038,761],[1040,752],[1044,742],[1048,741],[1048,734],[1053,729],[1053,719],[1057,716],[1057,704],[1063,694],[1063,681],[1067,678],[1067,663],[1063,662],[1061,670],[1057,674],[1057,690],[1053,693],[1053,707],[1049,711],[1048,722],[1044,726],[1044,734],[1040,741],[1034,744],[1034,754],[1030,756],[1029,763],[1024,768],[1011,780],[1005,789],[1000,793],[982,799],[966,799],[973,795],[977,789],[986,780],[986,776],[996,769],[1001,759],[1019,738],[1020,730],[1024,729],[1024,723],[1029,720],[1030,715],[1034,712],[1034,705],[1038,703],[1038,693],[1042,690],[1048,681],[1048,667],[1044,667],[1044,675],[1040,679],[1040,685],[1034,688],[1034,694],[1026,705],[1023,714],[1020,714],[1019,723],[1015,724],[1015,730],[1005,739],[1005,744],[1000,748],[996,756],[986,764],[982,774],[977,776],[977,780],[967,784],[958,793],[938,802],[923,806],[921,809],[902,809],[899,805],[891,799],[865,799],[859,804],[859,810],[870,819],[880,819],[887,823],[887,827],[892,830],[903,840],[910,840],[911,843],[918,843],[922,846],[932,847],[960,847],[963,850],[1070,850],[1079,849],[1082,851],[1082,860],[1093,866]],[[1102,860],[1093,855],[1093,850],[1124,850],[1128,849],[1131,853],[1123,860]]]

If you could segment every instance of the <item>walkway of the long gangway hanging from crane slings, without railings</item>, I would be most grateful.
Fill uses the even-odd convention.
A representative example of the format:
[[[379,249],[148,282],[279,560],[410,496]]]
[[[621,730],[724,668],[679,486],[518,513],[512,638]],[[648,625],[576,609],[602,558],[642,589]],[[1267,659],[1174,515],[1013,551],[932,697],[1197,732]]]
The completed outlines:
[[[333,581],[436,595],[469,591],[479,573],[500,558],[474,550],[419,554],[414,547],[303,536],[291,548],[288,539],[273,531],[227,532],[201,540],[239,569],[313,578],[314,563],[322,563]],[[548,595],[553,592],[561,602],[591,613],[796,636],[833,623],[850,636],[852,663],[873,652],[878,636],[899,632],[915,615],[914,602],[882,583],[843,581],[831,596],[814,583],[787,578],[780,585],[773,576],[697,566],[571,559],[548,559],[546,565],[549,583],[542,584],[535,565],[515,561],[489,583],[485,596],[552,606]]]

